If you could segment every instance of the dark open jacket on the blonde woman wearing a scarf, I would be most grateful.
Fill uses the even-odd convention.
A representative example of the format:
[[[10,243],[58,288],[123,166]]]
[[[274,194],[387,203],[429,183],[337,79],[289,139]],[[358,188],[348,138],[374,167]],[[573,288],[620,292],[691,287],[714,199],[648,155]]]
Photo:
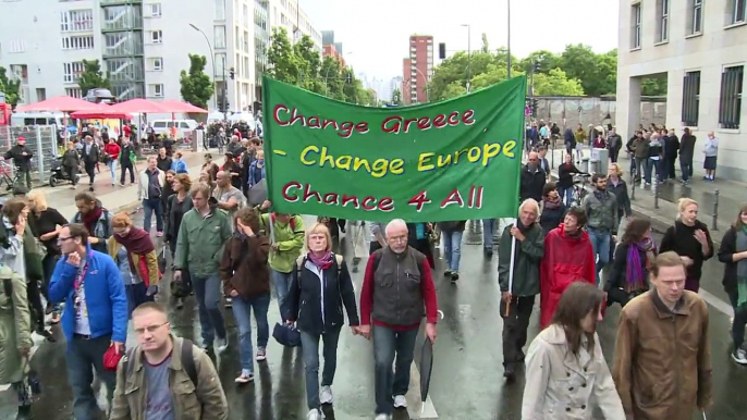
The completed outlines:
[[[345,317],[342,314],[344,304],[350,324],[358,325],[360,321],[355,305],[355,291],[345,261],[339,267],[336,257],[332,255],[332,265],[323,271],[323,321],[321,318],[322,282],[306,267],[306,262],[304,258],[301,264],[303,267],[296,267],[293,270],[284,318],[295,320],[298,330],[319,335],[342,328],[345,322]]]

